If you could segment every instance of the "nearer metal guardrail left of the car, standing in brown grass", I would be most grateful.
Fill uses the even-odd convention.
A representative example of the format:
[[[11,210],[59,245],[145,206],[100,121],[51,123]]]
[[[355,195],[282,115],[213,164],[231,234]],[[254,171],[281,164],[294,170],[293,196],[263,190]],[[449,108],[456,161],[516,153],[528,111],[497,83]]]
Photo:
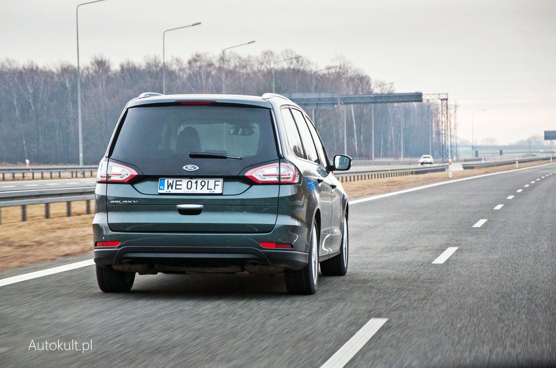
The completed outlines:
[[[72,201],[85,200],[87,214],[90,214],[92,213],[91,200],[94,198],[95,186],[0,191],[0,209],[21,206],[21,220],[27,221],[27,205],[44,204],[44,218],[48,219],[51,203],[66,202],[66,215],[71,216]],[[0,223],[2,223],[1,213]]]

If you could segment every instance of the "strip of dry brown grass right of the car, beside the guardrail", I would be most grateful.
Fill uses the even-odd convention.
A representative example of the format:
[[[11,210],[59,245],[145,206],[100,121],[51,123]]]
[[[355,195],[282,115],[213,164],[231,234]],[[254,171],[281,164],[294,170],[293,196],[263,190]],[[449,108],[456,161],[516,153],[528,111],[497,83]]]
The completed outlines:
[[[531,166],[542,165],[547,162],[528,162],[519,164],[519,168],[527,168]],[[472,169],[453,172],[453,179],[474,177],[476,175],[496,173],[502,171],[515,170],[515,164],[503,165],[493,168],[486,169]],[[421,175],[406,175],[405,177],[393,177],[393,178],[382,178],[382,179],[371,179],[371,180],[359,180],[357,182],[346,182],[342,183],[344,189],[346,190],[347,197],[350,199],[387,193],[389,191],[400,190],[411,188],[413,186],[425,185],[436,182],[444,182],[450,180],[448,178],[448,172],[440,173],[429,173]]]

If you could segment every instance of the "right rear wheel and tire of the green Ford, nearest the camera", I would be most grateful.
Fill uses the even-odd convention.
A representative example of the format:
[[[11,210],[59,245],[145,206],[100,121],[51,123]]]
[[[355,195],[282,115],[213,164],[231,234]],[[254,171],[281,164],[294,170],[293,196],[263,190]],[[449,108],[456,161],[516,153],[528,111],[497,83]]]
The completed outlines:
[[[286,290],[290,294],[315,294],[319,284],[319,232],[316,225],[311,231],[309,263],[300,270],[285,270]]]

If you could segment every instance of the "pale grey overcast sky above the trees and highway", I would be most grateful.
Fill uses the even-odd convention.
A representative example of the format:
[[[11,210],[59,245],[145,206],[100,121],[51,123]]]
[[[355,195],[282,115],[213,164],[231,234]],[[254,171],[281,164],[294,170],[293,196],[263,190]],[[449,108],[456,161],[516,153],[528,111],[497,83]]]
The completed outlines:
[[[76,63],[75,7],[82,1],[0,0],[0,58]],[[508,143],[556,130],[555,0],[174,1],[107,0],[80,8],[80,55],[117,63],[255,39],[237,52],[285,48],[321,67],[343,54],[396,92],[447,92],[458,135]],[[122,101],[122,106],[125,102]]]

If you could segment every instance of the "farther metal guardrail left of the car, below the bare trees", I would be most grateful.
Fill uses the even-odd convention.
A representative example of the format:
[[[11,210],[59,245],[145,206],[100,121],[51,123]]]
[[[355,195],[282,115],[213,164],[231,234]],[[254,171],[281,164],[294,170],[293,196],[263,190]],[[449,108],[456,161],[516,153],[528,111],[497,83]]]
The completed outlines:
[[[58,174],[58,178],[62,178],[62,173],[71,174],[72,178],[86,178],[87,174],[92,178],[97,174],[97,165],[90,166],[32,166],[32,167],[3,167],[0,168],[2,180],[6,179],[35,179],[40,174],[41,179],[54,179]],[[47,174],[47,175],[44,175]],[[49,175],[48,175],[49,174]]]

